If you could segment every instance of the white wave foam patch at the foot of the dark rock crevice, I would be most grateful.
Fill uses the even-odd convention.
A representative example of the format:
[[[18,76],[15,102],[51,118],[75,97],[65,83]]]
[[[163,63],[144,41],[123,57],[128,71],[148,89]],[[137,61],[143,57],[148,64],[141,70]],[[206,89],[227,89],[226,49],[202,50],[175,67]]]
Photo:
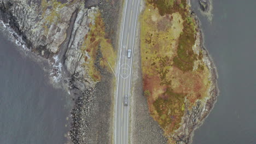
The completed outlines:
[[[58,55],[55,55],[54,57],[55,62],[53,63],[53,69],[51,70],[50,76],[53,76],[53,80],[55,82],[60,82],[61,80],[61,68],[62,64],[60,63],[60,59]]]

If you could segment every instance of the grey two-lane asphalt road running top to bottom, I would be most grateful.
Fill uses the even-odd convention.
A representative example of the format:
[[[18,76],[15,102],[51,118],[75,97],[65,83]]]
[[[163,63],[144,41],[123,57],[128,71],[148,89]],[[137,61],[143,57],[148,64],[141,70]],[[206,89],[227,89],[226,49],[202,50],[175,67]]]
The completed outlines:
[[[136,25],[141,0],[125,0],[123,20],[120,30],[119,63],[117,73],[117,95],[115,99],[114,143],[126,144],[129,138],[129,105],[124,106],[124,95],[130,94],[133,49],[135,45]],[[127,58],[127,50],[132,50]]]

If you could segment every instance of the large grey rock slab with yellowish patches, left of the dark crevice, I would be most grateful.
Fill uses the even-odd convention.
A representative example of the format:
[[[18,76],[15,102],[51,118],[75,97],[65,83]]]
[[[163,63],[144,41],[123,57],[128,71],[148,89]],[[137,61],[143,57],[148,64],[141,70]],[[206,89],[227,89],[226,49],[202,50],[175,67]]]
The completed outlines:
[[[63,7],[57,1],[3,0],[0,5],[1,19],[22,34],[32,50],[41,53],[45,49],[55,54],[66,39],[69,20],[79,5],[80,2]]]

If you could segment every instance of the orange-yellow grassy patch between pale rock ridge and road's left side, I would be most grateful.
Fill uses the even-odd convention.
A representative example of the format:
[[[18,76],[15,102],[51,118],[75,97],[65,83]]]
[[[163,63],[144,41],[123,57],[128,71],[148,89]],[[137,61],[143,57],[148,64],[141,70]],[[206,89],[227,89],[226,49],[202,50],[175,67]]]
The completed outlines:
[[[90,32],[85,35],[84,39],[82,51],[90,56],[90,58],[85,56],[85,65],[88,65],[89,75],[92,79],[100,81],[101,75],[95,67],[96,62],[98,61],[102,68],[112,73],[110,66],[114,69],[116,59],[116,52],[110,39],[106,38],[105,26],[100,11],[95,15],[94,25],[90,24]]]

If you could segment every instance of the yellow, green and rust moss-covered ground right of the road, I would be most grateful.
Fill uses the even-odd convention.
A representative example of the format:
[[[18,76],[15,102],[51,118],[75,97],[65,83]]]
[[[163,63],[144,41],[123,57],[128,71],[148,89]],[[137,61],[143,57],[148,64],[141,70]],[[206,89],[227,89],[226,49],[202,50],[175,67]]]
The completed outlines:
[[[147,0],[140,17],[144,95],[165,135],[207,95],[209,71],[193,49],[197,27],[185,0]]]

